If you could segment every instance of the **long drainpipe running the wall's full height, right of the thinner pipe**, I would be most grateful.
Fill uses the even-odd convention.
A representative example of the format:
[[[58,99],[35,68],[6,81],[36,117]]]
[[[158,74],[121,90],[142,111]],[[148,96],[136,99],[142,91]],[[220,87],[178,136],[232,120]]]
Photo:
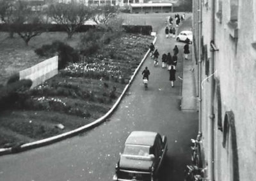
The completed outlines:
[[[208,177],[210,181],[214,181],[214,45],[215,40],[215,0],[211,1],[211,59],[210,59],[210,110],[209,110],[209,124],[208,124],[208,138],[209,138],[209,149],[208,149]],[[215,47],[215,46],[214,46]]]

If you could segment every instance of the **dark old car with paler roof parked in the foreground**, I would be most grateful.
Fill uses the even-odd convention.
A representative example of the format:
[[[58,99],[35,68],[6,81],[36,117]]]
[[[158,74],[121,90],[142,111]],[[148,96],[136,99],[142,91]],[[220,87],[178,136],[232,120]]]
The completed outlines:
[[[116,164],[113,180],[157,180],[166,151],[166,136],[149,131],[132,131]]]

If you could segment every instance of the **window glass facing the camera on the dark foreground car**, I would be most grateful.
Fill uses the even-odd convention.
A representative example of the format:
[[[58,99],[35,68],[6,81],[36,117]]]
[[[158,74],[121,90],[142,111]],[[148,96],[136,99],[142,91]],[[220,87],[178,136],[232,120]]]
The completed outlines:
[[[145,145],[125,145],[124,154],[132,156],[148,156],[150,147]]]

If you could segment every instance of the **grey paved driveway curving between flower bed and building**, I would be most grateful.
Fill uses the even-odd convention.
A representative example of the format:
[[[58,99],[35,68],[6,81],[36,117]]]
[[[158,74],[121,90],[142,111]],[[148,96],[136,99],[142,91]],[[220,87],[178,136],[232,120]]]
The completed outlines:
[[[164,38],[164,29],[161,32],[156,45],[160,54],[174,47],[173,40]],[[108,122],[54,145],[0,157],[0,180],[111,180],[125,138],[134,130],[157,131],[168,137],[168,160],[161,180],[183,180],[183,170],[190,163],[189,140],[197,132],[198,113],[179,110],[181,80],[172,88],[166,69],[154,68],[150,57],[145,66],[151,72],[148,91],[144,91],[138,75]],[[177,76],[182,76],[180,57],[177,69]]]

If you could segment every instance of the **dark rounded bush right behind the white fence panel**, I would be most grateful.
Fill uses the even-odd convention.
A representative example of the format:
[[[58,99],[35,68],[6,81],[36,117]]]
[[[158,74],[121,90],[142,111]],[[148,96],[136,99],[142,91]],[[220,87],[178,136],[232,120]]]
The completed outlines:
[[[51,45],[43,45],[41,48],[37,48],[35,53],[42,57],[53,57],[58,54],[58,69],[65,68],[68,62],[79,61],[79,54],[77,50],[61,41],[54,41]]]

